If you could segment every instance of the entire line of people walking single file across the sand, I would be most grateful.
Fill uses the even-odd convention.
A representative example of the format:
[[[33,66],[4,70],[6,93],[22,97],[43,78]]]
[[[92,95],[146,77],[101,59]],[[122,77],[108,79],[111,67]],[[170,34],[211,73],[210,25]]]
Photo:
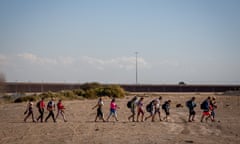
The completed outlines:
[[[195,115],[196,111],[195,108],[197,106],[195,102],[195,97],[192,97],[190,100],[186,101],[186,107],[189,110],[189,116],[188,116],[188,122],[193,122],[195,121]],[[134,96],[131,100],[127,102],[127,107],[131,111],[131,115],[128,117],[129,121],[132,122],[144,122],[147,121],[148,119],[151,119],[152,122],[155,121],[156,116],[158,116],[159,121],[168,121],[169,116],[170,116],[170,106],[171,106],[171,100],[167,100],[164,103],[161,103],[162,97],[158,97],[150,101],[146,105],[146,111],[149,113],[148,116],[145,116],[145,110],[144,110],[144,97],[138,98],[137,96]],[[99,119],[102,120],[103,122],[109,121],[110,117],[114,117],[115,121],[118,121],[117,117],[117,109],[120,107],[116,104],[116,99],[113,98],[110,102],[110,111],[107,119],[104,118],[104,113],[103,113],[103,99],[100,97],[98,99],[97,104],[92,107],[92,109],[97,108],[97,115],[95,117],[95,122]],[[60,99],[57,103],[57,115],[55,117],[54,111],[55,111],[55,103],[54,99],[51,98],[51,100],[47,103],[46,109],[48,110],[48,116],[44,120],[44,111],[45,111],[45,102],[44,98],[42,98],[38,103],[37,103],[37,108],[39,111],[39,116],[37,119],[34,118],[34,113],[33,113],[33,102],[30,101],[27,104],[27,109],[24,112],[26,115],[24,118],[24,122],[27,121],[27,119],[31,116],[33,122],[47,122],[50,117],[52,117],[53,122],[56,122],[56,119],[58,116],[61,114],[63,117],[64,122],[67,122],[65,114],[64,114],[64,109],[65,107],[62,104],[62,100]],[[206,121],[208,119],[211,119],[211,121],[215,121],[215,109],[217,108],[216,105],[216,97],[208,97],[205,99],[201,104],[200,108],[202,109],[202,116],[201,116],[201,122],[203,122],[204,118]],[[162,118],[161,117],[161,109],[162,111],[165,112],[165,116]]]

